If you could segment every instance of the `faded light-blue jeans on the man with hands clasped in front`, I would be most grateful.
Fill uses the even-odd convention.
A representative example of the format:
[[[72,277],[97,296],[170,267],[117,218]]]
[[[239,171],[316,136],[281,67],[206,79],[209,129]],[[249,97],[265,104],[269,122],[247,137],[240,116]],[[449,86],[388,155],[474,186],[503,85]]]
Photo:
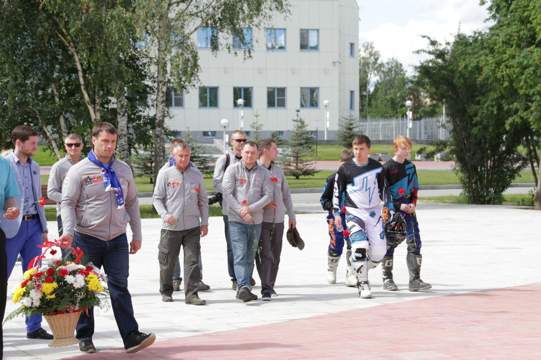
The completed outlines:
[[[255,254],[258,251],[261,224],[243,224],[229,222],[229,236],[233,247],[233,266],[237,279],[237,290],[248,288],[254,272]]]

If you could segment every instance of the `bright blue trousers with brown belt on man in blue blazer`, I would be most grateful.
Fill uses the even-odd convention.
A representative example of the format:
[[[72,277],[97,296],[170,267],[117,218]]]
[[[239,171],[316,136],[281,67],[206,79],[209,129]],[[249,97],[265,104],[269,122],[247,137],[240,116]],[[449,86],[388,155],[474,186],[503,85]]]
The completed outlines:
[[[28,270],[28,264],[32,259],[41,255],[41,248],[38,248],[37,245],[43,245],[43,229],[39,217],[29,221],[23,220],[17,235],[5,241],[5,250],[8,254],[8,279],[19,253],[21,254],[23,273]],[[41,314],[32,315],[31,317],[26,316],[27,333],[39,330],[41,320]]]

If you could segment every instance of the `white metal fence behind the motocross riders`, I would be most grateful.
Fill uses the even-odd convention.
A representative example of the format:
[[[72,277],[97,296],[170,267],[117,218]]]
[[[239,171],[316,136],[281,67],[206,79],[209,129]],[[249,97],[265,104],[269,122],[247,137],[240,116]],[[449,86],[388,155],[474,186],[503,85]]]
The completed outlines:
[[[407,118],[363,118],[359,120],[359,130],[371,140],[392,140],[398,135],[406,135],[412,140],[446,140],[448,131],[441,126],[444,118],[424,118],[413,121],[409,131]]]

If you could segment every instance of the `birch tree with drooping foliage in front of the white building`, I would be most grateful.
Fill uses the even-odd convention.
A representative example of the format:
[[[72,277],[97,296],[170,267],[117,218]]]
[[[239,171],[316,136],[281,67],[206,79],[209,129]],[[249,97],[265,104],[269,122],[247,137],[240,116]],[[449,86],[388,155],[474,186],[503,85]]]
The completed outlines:
[[[135,0],[135,18],[141,47],[155,78],[155,175],[163,163],[166,118],[166,92],[169,85],[175,89],[189,90],[199,80],[200,66],[197,46],[192,37],[202,27],[210,31],[210,48],[232,51],[230,41],[220,43],[220,37],[234,35],[248,44],[242,26],[260,28],[276,13],[288,10],[287,0]],[[249,46],[245,56],[250,55]]]

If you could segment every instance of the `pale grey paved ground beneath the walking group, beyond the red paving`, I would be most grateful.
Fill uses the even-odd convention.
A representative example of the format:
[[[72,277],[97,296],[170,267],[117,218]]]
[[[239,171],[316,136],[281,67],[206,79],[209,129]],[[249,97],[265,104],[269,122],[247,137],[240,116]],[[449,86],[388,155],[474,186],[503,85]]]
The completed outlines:
[[[172,303],[161,301],[157,263],[161,222],[143,219],[143,247],[130,257],[129,279],[140,330],[155,332],[157,341],[163,341],[414,299],[541,282],[541,262],[537,261],[541,256],[538,245],[541,212],[513,206],[419,203],[418,218],[423,237],[421,275],[432,284],[431,290],[407,291],[405,245],[399,246],[395,253],[394,279],[399,291],[382,290],[378,268],[369,274],[373,298],[360,299],[357,289],[344,285],[344,257],[339,264],[338,283],[328,284],[324,214],[302,214],[298,216],[298,228],[306,248],[299,251],[285,241],[275,288],[279,296],[270,302],[249,303],[236,300],[230,288],[223,222],[219,217],[211,218],[209,235],[201,242],[203,281],[212,288],[200,292],[200,297],[207,301],[205,306],[184,304],[182,292],[175,292]],[[55,237],[56,224],[51,222],[49,226],[50,236]],[[17,264],[9,279],[9,290],[20,276],[21,266]],[[259,284],[256,274],[254,277]],[[254,293],[259,295],[259,291],[256,285]],[[14,309],[15,304],[8,300],[6,311]],[[44,328],[48,329],[45,323]],[[4,325],[5,359],[58,359],[80,355],[76,345],[48,348],[47,343],[25,338],[23,318]],[[98,350],[122,347],[110,309],[96,311],[94,343]]]

